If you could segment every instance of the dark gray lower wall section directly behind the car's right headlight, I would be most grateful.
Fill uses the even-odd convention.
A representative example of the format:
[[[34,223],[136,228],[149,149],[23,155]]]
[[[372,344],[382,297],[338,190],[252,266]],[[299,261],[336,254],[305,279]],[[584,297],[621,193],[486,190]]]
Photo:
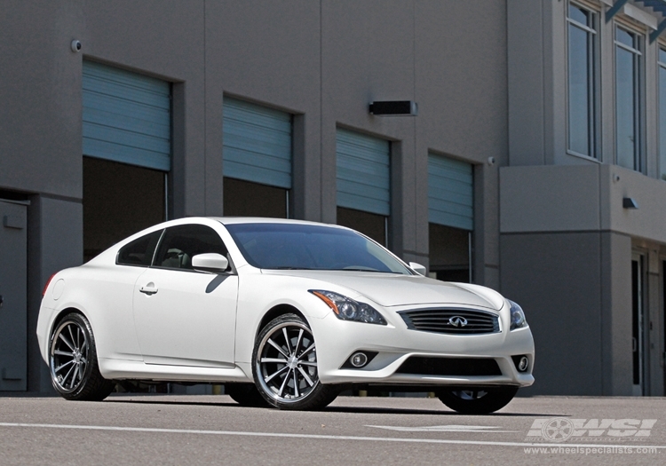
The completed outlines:
[[[503,234],[501,291],[535,337],[535,384],[525,394],[603,391],[599,233]]]

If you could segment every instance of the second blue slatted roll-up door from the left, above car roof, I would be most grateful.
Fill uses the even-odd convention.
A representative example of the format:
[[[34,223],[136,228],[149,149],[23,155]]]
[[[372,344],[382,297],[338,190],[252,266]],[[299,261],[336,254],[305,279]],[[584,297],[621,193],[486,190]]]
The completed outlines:
[[[224,176],[291,188],[291,115],[238,99],[223,104]]]

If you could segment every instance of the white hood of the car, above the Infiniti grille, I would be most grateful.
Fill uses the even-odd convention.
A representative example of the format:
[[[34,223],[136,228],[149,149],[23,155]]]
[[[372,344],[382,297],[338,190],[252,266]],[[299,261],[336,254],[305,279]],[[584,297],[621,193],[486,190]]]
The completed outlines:
[[[410,304],[464,304],[499,311],[504,303],[503,297],[490,288],[433,280],[422,276],[351,271],[269,272],[265,270],[263,272],[327,281],[352,289],[385,307]]]

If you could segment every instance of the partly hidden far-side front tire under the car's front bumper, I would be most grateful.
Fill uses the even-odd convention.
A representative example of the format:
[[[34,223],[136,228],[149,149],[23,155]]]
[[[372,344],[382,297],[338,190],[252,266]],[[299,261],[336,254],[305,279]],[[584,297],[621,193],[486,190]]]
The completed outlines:
[[[446,406],[462,415],[488,415],[509,404],[518,387],[440,391],[437,396]]]

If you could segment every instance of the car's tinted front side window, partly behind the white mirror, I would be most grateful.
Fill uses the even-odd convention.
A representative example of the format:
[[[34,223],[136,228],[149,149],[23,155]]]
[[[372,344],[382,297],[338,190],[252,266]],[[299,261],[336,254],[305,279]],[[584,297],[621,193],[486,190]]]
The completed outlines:
[[[155,267],[192,270],[192,257],[215,252],[226,257],[225,243],[210,226],[178,225],[167,228],[155,255]]]

